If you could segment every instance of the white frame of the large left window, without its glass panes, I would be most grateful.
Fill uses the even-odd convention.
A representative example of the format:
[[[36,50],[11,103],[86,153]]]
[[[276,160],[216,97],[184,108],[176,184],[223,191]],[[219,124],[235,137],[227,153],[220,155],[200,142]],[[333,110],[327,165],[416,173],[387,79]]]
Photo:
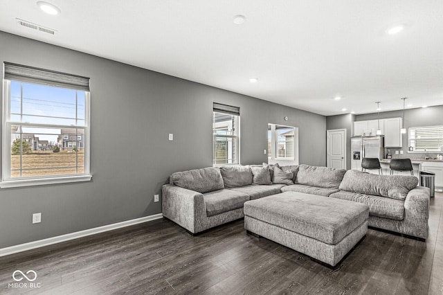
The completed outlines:
[[[54,87],[55,85],[51,83],[37,83],[37,82],[28,82],[26,80],[21,80],[19,78],[11,78],[11,79],[3,79],[3,136],[2,136],[2,171],[1,171],[1,182],[0,188],[15,188],[21,186],[39,186],[45,184],[65,184],[71,182],[79,182],[79,181],[90,181],[92,179],[92,175],[90,172],[90,91],[85,91],[85,100],[84,100],[84,108],[85,108],[85,118],[84,118],[84,126],[65,126],[65,125],[50,125],[50,124],[38,124],[38,123],[22,123],[19,125],[26,127],[68,127],[68,128],[76,128],[76,129],[84,129],[84,172],[76,173],[73,175],[49,175],[49,176],[39,176],[39,177],[19,177],[12,178],[11,177],[11,126],[17,125],[17,122],[12,122],[10,120],[10,93],[11,93],[11,81],[24,82],[24,83],[32,83],[32,84],[42,84],[45,86]],[[55,86],[62,88],[71,88],[73,87],[64,87],[64,86]],[[78,89],[80,90],[80,89]]]

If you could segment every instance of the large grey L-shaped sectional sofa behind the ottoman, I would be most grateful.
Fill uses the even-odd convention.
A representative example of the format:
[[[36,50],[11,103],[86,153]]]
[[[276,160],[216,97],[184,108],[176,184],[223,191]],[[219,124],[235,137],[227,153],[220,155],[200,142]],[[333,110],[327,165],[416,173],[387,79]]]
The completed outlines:
[[[175,172],[162,187],[163,217],[190,233],[244,217],[244,203],[282,192],[320,195],[369,207],[368,225],[428,237],[430,193],[413,176],[300,166],[221,166]]]

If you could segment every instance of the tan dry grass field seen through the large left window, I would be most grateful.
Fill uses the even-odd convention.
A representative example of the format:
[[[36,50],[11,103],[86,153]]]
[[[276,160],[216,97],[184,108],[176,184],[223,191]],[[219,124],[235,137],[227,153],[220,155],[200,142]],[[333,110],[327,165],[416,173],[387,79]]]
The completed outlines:
[[[21,175],[20,175],[21,166]],[[84,172],[84,152],[34,151],[31,154],[11,156],[11,177],[38,177],[72,175]]]

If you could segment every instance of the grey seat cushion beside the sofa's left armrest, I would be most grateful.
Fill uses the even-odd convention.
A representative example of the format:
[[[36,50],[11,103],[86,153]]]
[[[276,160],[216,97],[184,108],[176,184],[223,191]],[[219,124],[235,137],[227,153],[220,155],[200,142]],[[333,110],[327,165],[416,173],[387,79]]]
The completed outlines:
[[[209,217],[242,208],[249,196],[235,190],[222,189],[204,193],[203,199],[206,204],[206,215]]]

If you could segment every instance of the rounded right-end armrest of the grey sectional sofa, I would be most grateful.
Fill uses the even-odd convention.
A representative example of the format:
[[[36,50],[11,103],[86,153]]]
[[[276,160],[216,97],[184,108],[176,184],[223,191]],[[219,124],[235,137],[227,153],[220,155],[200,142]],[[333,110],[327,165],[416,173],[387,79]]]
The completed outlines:
[[[404,202],[404,233],[414,237],[428,238],[430,190],[417,186],[410,190]]]

